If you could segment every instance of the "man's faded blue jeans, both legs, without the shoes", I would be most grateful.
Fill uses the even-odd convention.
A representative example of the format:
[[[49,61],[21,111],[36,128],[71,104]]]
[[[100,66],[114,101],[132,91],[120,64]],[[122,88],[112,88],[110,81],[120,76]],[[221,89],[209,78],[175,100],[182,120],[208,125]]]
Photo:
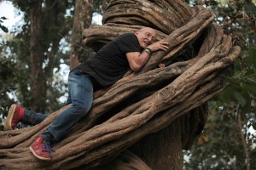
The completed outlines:
[[[42,133],[44,139],[58,141],[73,127],[82,116],[85,116],[93,101],[93,85],[90,76],[80,71],[72,71],[68,75],[67,104],[72,106],[61,112],[54,122]],[[46,115],[35,111],[25,110],[23,122],[36,125],[46,118]]]

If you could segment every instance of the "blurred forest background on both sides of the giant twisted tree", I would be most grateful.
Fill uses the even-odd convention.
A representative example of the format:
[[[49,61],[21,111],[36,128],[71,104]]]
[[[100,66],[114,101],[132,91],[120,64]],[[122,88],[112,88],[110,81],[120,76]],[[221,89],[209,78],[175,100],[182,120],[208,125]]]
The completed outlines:
[[[79,0],[42,1],[40,23],[32,23],[35,1],[4,2],[12,3],[15,14],[22,17],[15,26],[7,28],[4,23],[9,19],[0,16],[1,130],[13,103],[43,113],[57,111],[65,105],[69,69],[93,54],[82,44],[82,27],[78,26],[79,34],[74,37],[75,6]],[[101,22],[101,17],[92,20],[92,15],[102,14],[105,1],[91,2],[90,6],[83,4],[84,8],[90,8],[89,14],[82,16],[83,28],[92,22]],[[206,127],[192,148],[184,150],[183,169],[256,169],[256,1],[191,0],[186,3],[189,6],[203,4],[211,9],[218,25],[240,44],[241,54],[232,75],[227,77],[224,91],[209,100]],[[34,40],[32,24],[40,26],[38,38]],[[38,51],[31,48],[32,43]],[[73,56],[78,56],[74,63]]]

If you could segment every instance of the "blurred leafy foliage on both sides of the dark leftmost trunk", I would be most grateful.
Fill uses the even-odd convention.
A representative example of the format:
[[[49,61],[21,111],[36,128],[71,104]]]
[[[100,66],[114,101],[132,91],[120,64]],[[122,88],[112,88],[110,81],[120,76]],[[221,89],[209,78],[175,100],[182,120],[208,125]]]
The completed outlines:
[[[30,91],[30,10],[34,1],[13,1],[19,14],[23,14],[23,22],[15,26],[15,30],[6,34],[1,42],[0,59],[1,80],[6,78],[4,86],[0,86],[1,115],[6,116],[9,105],[18,103],[27,109],[32,105]],[[67,91],[67,84],[60,81],[61,64],[69,58],[69,44],[61,43],[69,36],[73,24],[73,1],[44,1],[43,8],[43,38],[40,42],[44,49],[44,74],[47,77],[47,103],[46,112],[52,112],[63,105],[59,98]],[[21,22],[20,22],[21,23]],[[63,47],[65,46],[65,47]],[[53,58],[51,62],[49,59]],[[3,66],[2,66],[3,65]],[[5,70],[4,70],[5,69]],[[12,74],[5,74],[9,71]],[[65,88],[66,87],[66,88]],[[11,94],[11,95],[10,95]],[[56,102],[58,101],[58,102]]]

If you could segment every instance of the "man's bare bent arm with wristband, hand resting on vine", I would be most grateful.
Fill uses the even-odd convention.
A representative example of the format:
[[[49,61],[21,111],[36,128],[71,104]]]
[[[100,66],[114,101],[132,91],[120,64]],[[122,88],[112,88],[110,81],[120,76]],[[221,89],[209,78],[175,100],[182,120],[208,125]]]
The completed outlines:
[[[131,70],[139,71],[143,67],[143,65],[146,64],[151,53],[157,50],[166,51],[168,48],[167,46],[168,44],[169,44],[168,42],[164,40],[160,40],[159,42],[154,42],[153,44],[148,45],[147,48],[149,48],[151,51],[148,49],[144,49],[142,53],[139,53],[139,52],[127,53],[126,57],[128,59]]]

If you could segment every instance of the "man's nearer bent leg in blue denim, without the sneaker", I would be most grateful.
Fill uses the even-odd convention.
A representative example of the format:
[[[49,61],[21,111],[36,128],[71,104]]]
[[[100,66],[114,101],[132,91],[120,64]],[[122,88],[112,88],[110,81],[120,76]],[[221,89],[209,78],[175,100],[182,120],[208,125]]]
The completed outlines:
[[[68,77],[68,90],[72,106],[55,118],[46,133],[50,133],[55,141],[61,139],[82,116],[85,116],[93,101],[93,87],[90,77],[73,71]],[[42,134],[44,137],[44,133]]]

